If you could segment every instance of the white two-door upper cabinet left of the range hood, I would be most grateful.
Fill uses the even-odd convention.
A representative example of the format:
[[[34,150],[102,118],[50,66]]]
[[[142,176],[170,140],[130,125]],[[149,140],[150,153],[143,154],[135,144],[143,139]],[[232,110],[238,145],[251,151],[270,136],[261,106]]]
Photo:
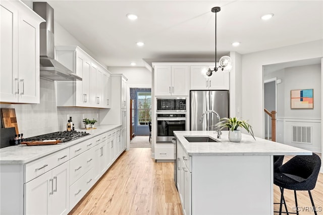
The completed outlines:
[[[20,1],[0,2],[0,102],[39,103],[39,24]]]

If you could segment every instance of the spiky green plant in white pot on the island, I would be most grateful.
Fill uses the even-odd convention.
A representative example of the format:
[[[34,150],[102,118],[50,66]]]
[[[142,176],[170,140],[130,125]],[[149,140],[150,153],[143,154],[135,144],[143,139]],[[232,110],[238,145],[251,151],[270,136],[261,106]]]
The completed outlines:
[[[240,142],[241,141],[241,131],[238,130],[239,127],[242,127],[246,129],[248,133],[251,134],[254,140],[253,131],[251,125],[248,123],[248,120],[240,120],[236,117],[232,118],[222,118],[220,122],[218,122],[216,125],[216,128],[222,130],[224,128],[229,129],[229,140],[231,142]]]

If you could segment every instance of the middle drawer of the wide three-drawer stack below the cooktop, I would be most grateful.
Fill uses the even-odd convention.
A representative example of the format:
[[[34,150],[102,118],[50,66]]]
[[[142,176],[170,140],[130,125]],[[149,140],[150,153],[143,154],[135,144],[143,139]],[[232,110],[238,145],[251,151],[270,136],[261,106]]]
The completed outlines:
[[[87,150],[70,160],[70,184],[73,184],[93,167],[94,153]]]

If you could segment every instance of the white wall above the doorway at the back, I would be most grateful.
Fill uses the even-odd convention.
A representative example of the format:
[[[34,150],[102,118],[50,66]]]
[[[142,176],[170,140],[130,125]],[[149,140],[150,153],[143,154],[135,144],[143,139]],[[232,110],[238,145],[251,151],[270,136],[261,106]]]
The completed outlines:
[[[151,88],[151,72],[145,67],[108,67],[111,73],[123,74],[128,78],[128,87]]]

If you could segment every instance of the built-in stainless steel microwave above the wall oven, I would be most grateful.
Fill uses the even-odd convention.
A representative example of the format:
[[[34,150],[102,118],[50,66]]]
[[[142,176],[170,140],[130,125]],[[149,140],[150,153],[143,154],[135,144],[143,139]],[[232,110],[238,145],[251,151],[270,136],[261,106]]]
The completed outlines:
[[[157,112],[186,112],[186,98],[157,98]]]

